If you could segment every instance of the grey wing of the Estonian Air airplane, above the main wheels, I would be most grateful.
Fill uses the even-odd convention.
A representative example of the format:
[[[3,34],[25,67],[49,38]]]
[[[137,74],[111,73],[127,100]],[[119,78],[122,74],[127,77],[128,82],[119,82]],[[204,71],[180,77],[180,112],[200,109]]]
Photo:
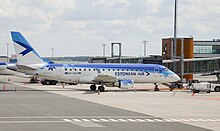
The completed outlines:
[[[114,76],[107,75],[107,74],[101,74],[99,73],[97,77],[94,78],[93,81],[95,82],[116,82],[118,79]]]

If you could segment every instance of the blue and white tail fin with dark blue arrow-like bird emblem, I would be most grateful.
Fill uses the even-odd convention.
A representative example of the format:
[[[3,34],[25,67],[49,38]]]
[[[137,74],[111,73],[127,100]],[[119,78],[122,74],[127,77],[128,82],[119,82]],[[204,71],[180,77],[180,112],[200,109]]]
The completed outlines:
[[[11,31],[14,48],[17,55],[17,65],[44,65],[44,60],[32,48],[20,32]]]

